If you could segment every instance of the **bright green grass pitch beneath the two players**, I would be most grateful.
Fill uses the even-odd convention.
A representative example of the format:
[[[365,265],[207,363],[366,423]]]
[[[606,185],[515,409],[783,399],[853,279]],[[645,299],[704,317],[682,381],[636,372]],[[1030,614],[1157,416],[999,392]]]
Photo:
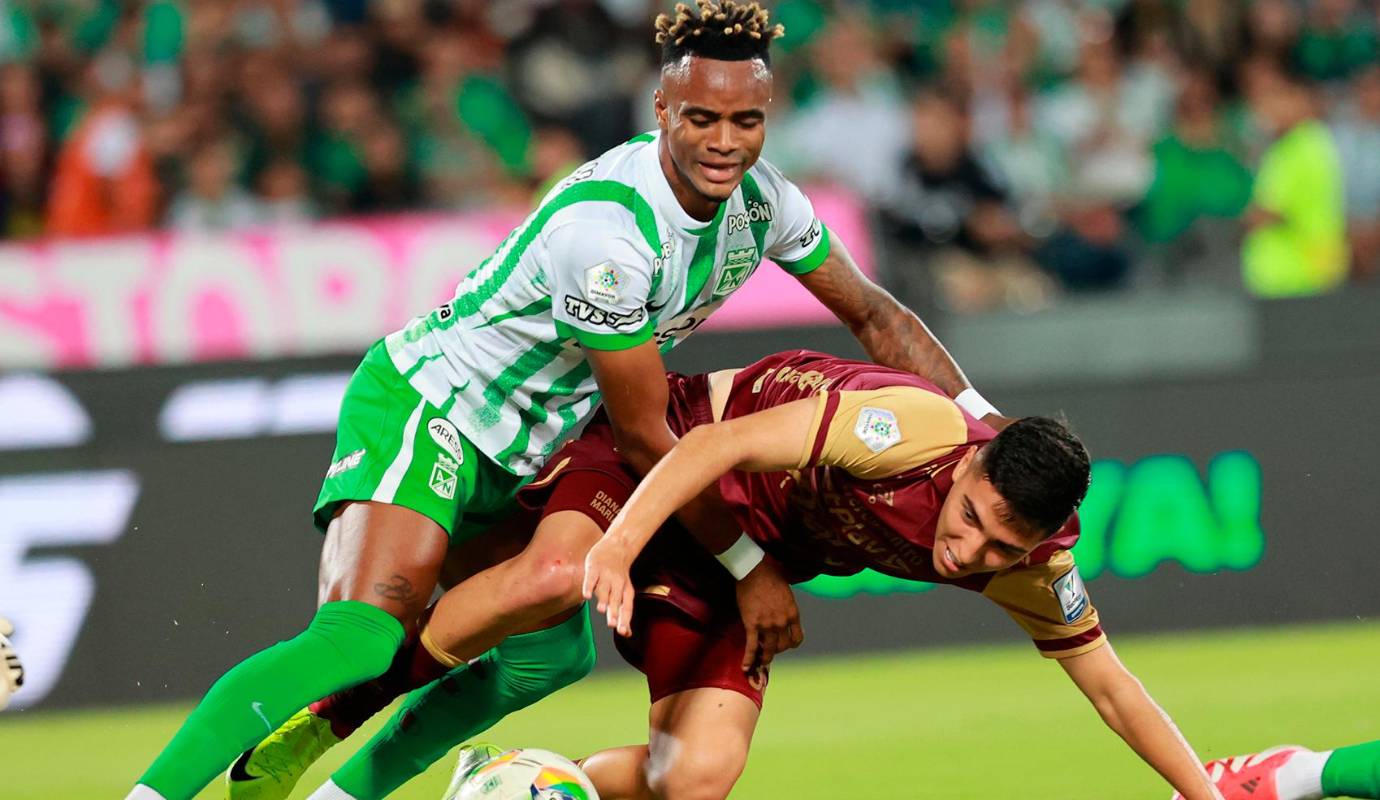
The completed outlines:
[[[1209,757],[1374,739],[1380,625],[1119,639],[1118,652]],[[581,756],[646,741],[640,676],[596,676],[489,738]],[[6,800],[123,797],[185,706],[7,714]],[[367,732],[367,731],[366,731]],[[304,781],[305,797],[348,754]],[[395,797],[436,800],[443,761]],[[213,789],[200,797],[218,797]],[[1029,644],[865,658],[787,658],[734,797],[1166,799],[1053,662]]]

